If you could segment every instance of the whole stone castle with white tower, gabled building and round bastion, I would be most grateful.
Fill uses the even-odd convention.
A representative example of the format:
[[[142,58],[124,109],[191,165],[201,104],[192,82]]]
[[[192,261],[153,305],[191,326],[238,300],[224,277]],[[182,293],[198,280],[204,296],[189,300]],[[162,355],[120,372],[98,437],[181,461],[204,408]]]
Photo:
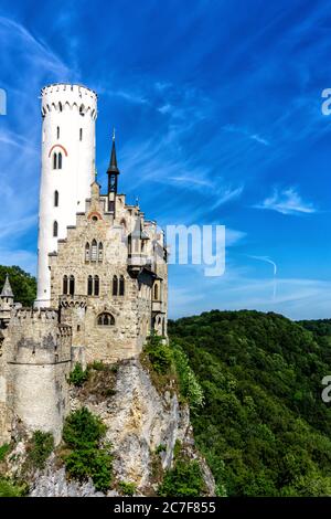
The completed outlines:
[[[95,169],[97,95],[79,85],[42,89],[38,298],[0,296],[0,443],[14,424],[61,441],[76,362],[138,356],[153,330],[167,339],[163,233],[118,192],[115,135],[106,194]]]

